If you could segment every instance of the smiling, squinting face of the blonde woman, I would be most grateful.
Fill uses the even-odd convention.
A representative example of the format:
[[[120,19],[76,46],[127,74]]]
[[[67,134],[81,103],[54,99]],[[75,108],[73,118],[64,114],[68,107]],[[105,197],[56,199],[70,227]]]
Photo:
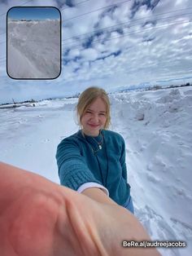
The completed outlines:
[[[98,136],[107,121],[107,109],[103,99],[97,98],[88,106],[81,117],[81,125],[85,135]]]

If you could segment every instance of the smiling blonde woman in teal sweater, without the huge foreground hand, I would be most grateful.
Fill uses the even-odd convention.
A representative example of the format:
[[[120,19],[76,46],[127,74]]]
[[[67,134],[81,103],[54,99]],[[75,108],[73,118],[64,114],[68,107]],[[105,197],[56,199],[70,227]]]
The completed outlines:
[[[80,95],[76,110],[81,130],[63,139],[57,148],[60,183],[133,213],[124,139],[107,130],[111,117],[106,91],[89,87]]]

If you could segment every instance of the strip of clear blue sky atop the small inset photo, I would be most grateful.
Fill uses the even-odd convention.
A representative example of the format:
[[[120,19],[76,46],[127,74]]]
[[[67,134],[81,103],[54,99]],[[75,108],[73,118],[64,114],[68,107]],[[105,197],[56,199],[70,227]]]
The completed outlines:
[[[11,20],[57,20],[59,10],[55,7],[13,7],[8,11]]]

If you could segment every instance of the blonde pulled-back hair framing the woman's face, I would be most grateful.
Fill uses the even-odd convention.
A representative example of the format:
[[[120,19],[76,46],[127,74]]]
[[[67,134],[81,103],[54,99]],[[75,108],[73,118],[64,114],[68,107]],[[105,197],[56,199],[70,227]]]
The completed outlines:
[[[110,116],[110,101],[107,95],[107,92],[99,87],[89,87],[84,90],[76,105],[76,113],[78,117],[79,125],[81,125],[81,118],[83,117],[86,109],[89,107],[90,104],[94,102],[95,99],[101,98],[103,102],[106,104],[106,123],[104,125],[104,129],[107,129],[110,125],[111,116]]]

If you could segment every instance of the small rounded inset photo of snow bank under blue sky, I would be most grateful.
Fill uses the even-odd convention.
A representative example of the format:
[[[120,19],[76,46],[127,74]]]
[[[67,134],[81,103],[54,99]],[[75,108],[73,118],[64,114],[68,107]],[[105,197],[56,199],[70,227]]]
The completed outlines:
[[[61,14],[55,7],[7,11],[7,74],[13,79],[55,79],[61,73]]]

